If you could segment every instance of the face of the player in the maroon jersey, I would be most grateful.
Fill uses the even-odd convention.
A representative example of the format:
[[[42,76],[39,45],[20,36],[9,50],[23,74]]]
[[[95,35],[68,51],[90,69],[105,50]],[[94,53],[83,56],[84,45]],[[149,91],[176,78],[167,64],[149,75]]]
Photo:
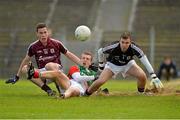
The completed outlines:
[[[48,29],[46,27],[39,28],[37,31],[37,37],[42,43],[46,43],[49,37]]]

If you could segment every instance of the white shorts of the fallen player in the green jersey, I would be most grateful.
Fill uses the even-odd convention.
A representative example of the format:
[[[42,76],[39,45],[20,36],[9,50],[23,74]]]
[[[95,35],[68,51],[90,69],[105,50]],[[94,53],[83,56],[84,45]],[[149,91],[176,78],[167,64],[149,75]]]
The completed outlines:
[[[79,92],[80,92],[79,96],[83,96],[85,93],[85,89],[81,86],[81,84],[72,79],[70,80],[70,87],[79,89]],[[60,86],[59,86],[59,89],[61,91],[61,94],[63,94],[66,91],[66,90],[62,89]]]

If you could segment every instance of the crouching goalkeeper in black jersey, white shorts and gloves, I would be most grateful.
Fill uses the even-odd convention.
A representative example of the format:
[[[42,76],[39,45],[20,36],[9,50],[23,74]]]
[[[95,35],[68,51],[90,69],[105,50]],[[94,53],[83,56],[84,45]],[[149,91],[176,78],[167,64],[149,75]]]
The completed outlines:
[[[105,54],[109,55],[106,63]],[[121,73],[123,77],[130,75],[137,78],[138,92],[144,93],[147,76],[133,60],[134,56],[140,59],[141,63],[150,74],[152,79],[150,85],[153,85],[155,88],[163,88],[163,84],[154,73],[146,55],[133,43],[131,34],[129,32],[124,32],[117,43],[98,50],[99,69],[102,70],[102,72],[99,79],[86,90],[86,94],[91,95],[101,85],[118,73]]]

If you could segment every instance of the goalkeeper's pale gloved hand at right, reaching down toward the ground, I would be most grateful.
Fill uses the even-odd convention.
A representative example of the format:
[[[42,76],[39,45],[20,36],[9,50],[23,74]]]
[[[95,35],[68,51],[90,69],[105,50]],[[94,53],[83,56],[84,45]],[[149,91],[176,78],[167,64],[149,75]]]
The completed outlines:
[[[156,76],[156,74],[151,74],[151,86],[154,86],[155,88],[163,88],[163,84],[161,83],[160,79]]]

